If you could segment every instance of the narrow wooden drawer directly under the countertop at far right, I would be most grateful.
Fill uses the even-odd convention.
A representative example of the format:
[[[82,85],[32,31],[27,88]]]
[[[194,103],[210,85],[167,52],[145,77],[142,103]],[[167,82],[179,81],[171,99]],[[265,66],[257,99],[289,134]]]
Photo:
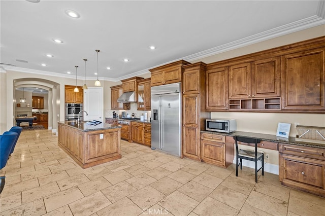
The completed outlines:
[[[279,144],[279,152],[286,155],[296,155],[304,158],[314,158],[325,161],[325,150],[312,147]]]

